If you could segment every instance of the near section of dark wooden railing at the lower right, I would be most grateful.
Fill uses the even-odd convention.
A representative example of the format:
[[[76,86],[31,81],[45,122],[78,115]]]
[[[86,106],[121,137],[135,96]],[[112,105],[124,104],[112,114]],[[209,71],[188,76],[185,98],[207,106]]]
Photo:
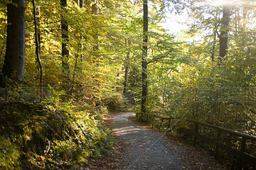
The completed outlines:
[[[252,136],[243,132],[237,132],[229,128],[222,128],[217,125],[202,123],[200,121],[188,122],[194,124],[194,129],[180,128],[180,130],[192,137],[193,146],[195,146],[198,143],[199,139],[203,140],[208,144],[214,144],[214,156],[216,160],[218,160],[219,152],[222,149],[222,151],[225,150],[227,153],[233,154],[237,158],[238,169],[242,169],[244,166],[246,166],[246,164],[250,164],[250,168],[256,168],[256,156],[251,155],[251,152],[248,151],[248,149],[246,149],[246,145],[249,145],[249,143],[255,144],[256,136]],[[210,136],[202,134],[202,132],[200,132],[200,128],[202,131],[203,129],[211,128]],[[222,140],[222,136],[224,136],[225,133],[226,136],[236,137],[237,140],[233,141],[233,143],[236,143],[233,144],[236,145],[236,147],[231,147],[225,144],[225,142]]]

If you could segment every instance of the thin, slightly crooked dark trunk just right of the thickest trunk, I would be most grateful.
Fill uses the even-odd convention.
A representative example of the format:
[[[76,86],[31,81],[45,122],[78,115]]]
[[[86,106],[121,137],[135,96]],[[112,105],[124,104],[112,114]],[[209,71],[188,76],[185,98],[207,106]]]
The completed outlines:
[[[34,0],[33,0],[33,7],[34,7],[34,36],[35,36],[36,54],[37,54],[38,65],[39,65],[39,69],[40,69],[40,93],[41,93],[41,100],[42,100],[42,62],[41,62],[41,59],[40,59],[40,51],[39,51],[40,44],[39,44],[39,36],[38,36],[38,24],[37,24]]]

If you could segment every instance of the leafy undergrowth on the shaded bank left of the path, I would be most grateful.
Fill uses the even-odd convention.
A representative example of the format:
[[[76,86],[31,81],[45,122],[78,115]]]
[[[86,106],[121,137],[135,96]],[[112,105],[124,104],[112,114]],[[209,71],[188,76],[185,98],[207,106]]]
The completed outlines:
[[[78,169],[114,144],[107,109],[82,103],[0,104],[0,169]]]

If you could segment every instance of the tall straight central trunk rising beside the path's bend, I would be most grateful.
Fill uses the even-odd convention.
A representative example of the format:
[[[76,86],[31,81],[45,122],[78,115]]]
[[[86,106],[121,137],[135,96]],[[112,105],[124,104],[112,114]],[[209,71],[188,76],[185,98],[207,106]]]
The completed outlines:
[[[148,6],[143,0],[143,46],[142,46],[142,113],[146,113],[147,97],[147,42],[148,42]]]

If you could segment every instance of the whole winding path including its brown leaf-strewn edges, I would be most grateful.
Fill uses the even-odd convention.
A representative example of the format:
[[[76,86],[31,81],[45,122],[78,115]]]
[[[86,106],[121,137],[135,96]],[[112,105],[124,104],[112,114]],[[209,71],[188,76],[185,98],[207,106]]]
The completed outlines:
[[[210,153],[138,123],[134,113],[111,114],[105,123],[116,145],[110,156],[94,160],[88,169],[225,169]]]

